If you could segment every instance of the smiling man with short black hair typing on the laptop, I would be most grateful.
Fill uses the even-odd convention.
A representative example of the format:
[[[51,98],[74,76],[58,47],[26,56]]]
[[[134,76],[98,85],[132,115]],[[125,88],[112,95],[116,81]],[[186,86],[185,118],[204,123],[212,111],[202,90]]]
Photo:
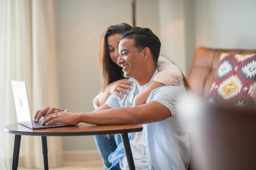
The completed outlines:
[[[43,125],[61,122],[76,125],[85,122],[95,125],[143,125],[143,132],[131,133],[130,144],[137,170],[185,170],[190,159],[188,134],[182,128],[182,117],[176,114],[176,96],[183,94],[183,85],[163,86],[150,94],[144,105],[132,107],[134,97],[140,93],[158,73],[157,60],[161,43],[148,28],[132,28],[123,34],[119,42],[118,63],[125,77],[134,82],[129,95],[120,99],[111,95],[93,112],[54,113],[56,108],[45,108],[35,114],[36,121],[47,116]],[[113,167],[128,169],[123,144],[111,153]]]

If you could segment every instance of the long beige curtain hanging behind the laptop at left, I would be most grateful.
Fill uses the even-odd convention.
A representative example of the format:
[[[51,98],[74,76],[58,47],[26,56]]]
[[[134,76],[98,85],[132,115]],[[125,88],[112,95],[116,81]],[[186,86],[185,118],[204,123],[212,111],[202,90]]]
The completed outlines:
[[[32,116],[58,107],[55,0],[0,0],[0,169],[11,169],[14,135],[4,126],[17,122],[11,80],[25,81]],[[61,137],[48,137],[49,167],[61,166]],[[22,136],[20,166],[43,167],[39,136]]]

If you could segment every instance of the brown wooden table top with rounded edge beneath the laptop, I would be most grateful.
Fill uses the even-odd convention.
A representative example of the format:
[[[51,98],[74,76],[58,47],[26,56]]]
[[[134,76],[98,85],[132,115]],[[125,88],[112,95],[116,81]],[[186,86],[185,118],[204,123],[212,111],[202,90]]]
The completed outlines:
[[[28,136],[87,136],[87,135],[105,135],[115,133],[140,132],[143,127],[139,125],[89,125],[79,123],[79,125],[50,127],[44,129],[30,129],[19,123],[7,125],[6,132],[15,135]]]

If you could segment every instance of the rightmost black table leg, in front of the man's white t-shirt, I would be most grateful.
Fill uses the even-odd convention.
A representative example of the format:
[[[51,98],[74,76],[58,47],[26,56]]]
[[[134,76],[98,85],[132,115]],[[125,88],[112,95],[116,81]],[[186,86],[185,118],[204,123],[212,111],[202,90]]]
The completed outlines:
[[[125,154],[128,161],[129,170],[135,170],[128,134],[123,133],[121,135],[122,135],[122,142],[124,143],[124,147],[125,147]]]

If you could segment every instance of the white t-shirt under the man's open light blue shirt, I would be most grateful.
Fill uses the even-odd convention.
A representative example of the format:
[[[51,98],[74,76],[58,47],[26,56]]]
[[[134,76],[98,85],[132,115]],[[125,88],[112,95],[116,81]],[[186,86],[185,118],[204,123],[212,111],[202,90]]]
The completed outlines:
[[[149,83],[139,86],[136,84],[136,96],[142,92]],[[131,152],[136,170],[148,170],[147,157],[144,148],[143,132],[136,132],[134,140],[130,140]],[[121,170],[129,170],[126,156],[119,161]]]

